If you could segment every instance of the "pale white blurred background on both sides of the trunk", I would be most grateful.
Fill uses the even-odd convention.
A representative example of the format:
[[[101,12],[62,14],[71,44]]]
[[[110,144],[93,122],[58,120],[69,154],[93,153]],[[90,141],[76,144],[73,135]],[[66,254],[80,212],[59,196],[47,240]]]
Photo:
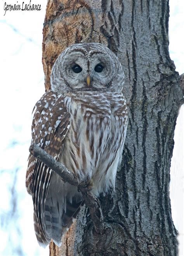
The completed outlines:
[[[42,29],[47,1],[37,1],[41,3],[40,12],[7,12],[3,16],[4,2],[0,0],[0,255],[45,256],[49,255],[49,247],[42,249],[36,241],[32,200],[24,184],[31,112],[44,93]],[[183,28],[184,1],[170,0],[169,50],[179,74],[184,73]],[[180,256],[184,256],[183,120],[182,106],[175,129],[170,184],[172,216],[180,233]]]

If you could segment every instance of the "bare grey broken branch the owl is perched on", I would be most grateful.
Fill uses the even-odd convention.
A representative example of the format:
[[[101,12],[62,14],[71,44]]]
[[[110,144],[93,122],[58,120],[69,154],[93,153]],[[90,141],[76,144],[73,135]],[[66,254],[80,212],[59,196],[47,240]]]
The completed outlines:
[[[67,181],[69,184],[77,186],[82,193],[85,205],[89,208],[90,216],[93,221],[95,231],[97,233],[104,233],[104,221],[103,214],[101,210],[101,205],[99,199],[97,199],[94,194],[89,191],[88,183],[79,183],[77,177],[69,171],[63,164],[57,162],[54,157],[49,155],[45,150],[40,148],[38,145],[31,144],[30,153],[46,164],[54,172],[56,172],[62,179]]]

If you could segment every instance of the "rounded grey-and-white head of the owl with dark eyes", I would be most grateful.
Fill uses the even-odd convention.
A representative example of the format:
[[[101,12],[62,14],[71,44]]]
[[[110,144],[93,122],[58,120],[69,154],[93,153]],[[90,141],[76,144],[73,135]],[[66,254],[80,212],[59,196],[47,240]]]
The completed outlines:
[[[124,73],[116,55],[99,43],[74,44],[57,58],[51,88],[68,91],[122,91]]]

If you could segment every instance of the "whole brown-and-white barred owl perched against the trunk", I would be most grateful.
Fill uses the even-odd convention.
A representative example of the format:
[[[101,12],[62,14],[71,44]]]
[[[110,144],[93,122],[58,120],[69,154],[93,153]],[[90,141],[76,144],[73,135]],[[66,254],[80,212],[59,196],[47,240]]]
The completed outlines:
[[[127,130],[122,94],[124,74],[118,58],[99,43],[75,44],[57,58],[51,89],[36,103],[32,143],[43,148],[75,174],[93,180],[92,192],[115,187]],[[77,187],[30,154],[26,188],[32,195],[38,243],[61,245],[83,205]]]

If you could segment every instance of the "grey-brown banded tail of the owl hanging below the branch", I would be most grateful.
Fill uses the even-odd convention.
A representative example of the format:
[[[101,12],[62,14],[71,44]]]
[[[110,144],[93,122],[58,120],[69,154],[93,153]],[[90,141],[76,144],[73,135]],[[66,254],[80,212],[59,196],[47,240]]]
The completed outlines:
[[[72,198],[72,202],[68,200],[61,202],[61,197],[59,199],[58,197],[48,196],[45,202],[42,228],[40,228],[34,213],[36,238],[40,246],[44,248],[50,243],[51,239],[57,246],[61,246],[62,235],[68,231],[81,207],[84,205],[83,200],[78,201],[75,197]]]

